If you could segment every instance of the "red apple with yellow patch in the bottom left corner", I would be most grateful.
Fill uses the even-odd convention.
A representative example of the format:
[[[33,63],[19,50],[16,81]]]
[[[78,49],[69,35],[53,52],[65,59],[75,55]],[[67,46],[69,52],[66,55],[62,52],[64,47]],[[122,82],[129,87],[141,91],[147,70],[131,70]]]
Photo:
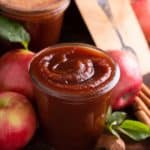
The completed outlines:
[[[16,92],[0,93],[0,150],[25,146],[36,129],[35,112],[29,100]]]

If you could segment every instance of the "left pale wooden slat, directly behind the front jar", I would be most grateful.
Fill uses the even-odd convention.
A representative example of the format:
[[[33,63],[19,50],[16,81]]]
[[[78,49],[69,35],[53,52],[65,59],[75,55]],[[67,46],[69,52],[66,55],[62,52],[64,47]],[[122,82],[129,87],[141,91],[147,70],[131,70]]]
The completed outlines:
[[[75,0],[95,44],[102,49],[120,48],[111,23],[96,0]],[[107,44],[106,44],[107,43]]]

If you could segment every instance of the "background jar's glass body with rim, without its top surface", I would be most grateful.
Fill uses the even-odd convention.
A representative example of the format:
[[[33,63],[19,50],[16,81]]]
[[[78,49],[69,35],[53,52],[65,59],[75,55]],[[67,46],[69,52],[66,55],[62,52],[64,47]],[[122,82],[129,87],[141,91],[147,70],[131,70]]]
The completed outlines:
[[[60,1],[60,2],[59,2]],[[26,10],[13,8],[0,3],[1,15],[21,23],[30,33],[31,42],[29,48],[39,51],[49,45],[55,44],[59,40],[64,12],[69,6],[70,0],[59,0],[53,2],[48,8]],[[18,45],[10,44],[4,40],[0,41],[2,49],[8,50]]]

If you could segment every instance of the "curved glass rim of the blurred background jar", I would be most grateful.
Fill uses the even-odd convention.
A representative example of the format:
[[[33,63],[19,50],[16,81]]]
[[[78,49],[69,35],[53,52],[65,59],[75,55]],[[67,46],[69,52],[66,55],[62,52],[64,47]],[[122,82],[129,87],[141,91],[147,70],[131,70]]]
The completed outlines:
[[[39,15],[39,14],[55,14],[58,12],[63,12],[69,6],[71,0],[61,0],[59,4],[53,4],[50,7],[42,8],[42,9],[19,9],[18,7],[11,7],[9,5],[4,5],[0,3],[1,11],[15,14],[15,15]]]

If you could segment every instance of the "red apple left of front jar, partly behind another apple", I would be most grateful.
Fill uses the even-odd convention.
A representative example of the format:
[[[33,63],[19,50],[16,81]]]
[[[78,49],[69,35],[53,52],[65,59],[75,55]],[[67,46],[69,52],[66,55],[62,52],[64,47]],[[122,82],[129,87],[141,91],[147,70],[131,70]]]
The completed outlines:
[[[28,66],[34,53],[28,50],[15,50],[0,58],[0,91],[14,91],[33,99],[33,84]]]

